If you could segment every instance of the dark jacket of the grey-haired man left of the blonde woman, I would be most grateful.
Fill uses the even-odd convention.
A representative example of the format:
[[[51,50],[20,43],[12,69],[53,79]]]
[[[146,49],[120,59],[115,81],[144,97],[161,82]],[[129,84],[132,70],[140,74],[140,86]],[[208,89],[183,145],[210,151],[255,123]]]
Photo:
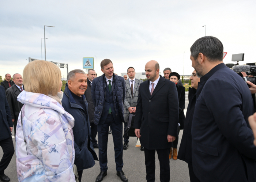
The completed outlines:
[[[23,85],[23,88],[25,89],[24,85]],[[8,88],[5,92],[7,101],[10,106],[12,119],[15,120],[14,124],[17,124],[19,112],[23,106],[22,103],[17,101],[17,97],[20,94],[20,92],[21,91],[15,84],[13,86],[11,86],[10,88]]]

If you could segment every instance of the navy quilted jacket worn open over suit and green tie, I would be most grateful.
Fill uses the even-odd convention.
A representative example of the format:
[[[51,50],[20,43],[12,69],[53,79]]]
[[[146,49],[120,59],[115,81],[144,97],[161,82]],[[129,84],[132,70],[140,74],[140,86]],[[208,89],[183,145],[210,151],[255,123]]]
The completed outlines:
[[[94,111],[94,124],[99,124],[99,119],[104,110],[104,104],[106,100],[106,78],[105,74],[95,78],[91,86],[91,97],[93,98],[93,103],[95,107]],[[121,119],[124,122],[124,99],[125,99],[125,80],[121,76],[113,74],[113,96],[114,96],[114,106],[119,108]]]

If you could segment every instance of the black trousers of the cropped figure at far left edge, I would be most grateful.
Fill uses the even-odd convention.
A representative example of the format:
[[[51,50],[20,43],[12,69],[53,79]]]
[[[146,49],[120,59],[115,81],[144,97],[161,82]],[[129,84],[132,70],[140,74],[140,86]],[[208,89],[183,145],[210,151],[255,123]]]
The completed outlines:
[[[4,170],[8,167],[14,154],[12,138],[0,141],[0,146],[2,147],[4,152],[4,155],[0,161],[0,175],[3,175]]]

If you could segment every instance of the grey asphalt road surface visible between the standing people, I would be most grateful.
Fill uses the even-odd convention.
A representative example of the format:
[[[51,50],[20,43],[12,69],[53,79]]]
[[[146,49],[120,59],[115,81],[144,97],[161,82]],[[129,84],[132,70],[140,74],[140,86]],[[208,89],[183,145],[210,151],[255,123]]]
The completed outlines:
[[[188,92],[186,93],[185,110],[188,106]],[[183,130],[180,130],[179,139],[181,140]],[[14,136],[14,132],[12,132]],[[178,142],[178,149],[180,147],[180,140]],[[14,147],[15,140],[13,139]],[[146,182],[146,168],[144,164],[144,152],[140,148],[135,147],[137,143],[136,137],[130,137],[129,147],[123,152],[124,167],[123,171],[128,177],[129,182]],[[98,155],[98,149],[95,149]],[[3,156],[3,150],[0,148],[0,156]],[[155,182],[160,182],[159,174],[159,161],[157,153],[155,155]],[[94,182],[100,172],[99,162],[96,161],[94,167],[83,170],[82,182]],[[170,181],[171,182],[189,182],[188,165],[179,159],[170,159]],[[12,157],[11,163],[5,170],[5,174],[11,179],[11,182],[18,182],[16,172],[16,156]],[[103,179],[103,182],[121,182],[120,178],[116,175],[116,164],[114,162],[114,145],[112,134],[108,138],[108,175]]]

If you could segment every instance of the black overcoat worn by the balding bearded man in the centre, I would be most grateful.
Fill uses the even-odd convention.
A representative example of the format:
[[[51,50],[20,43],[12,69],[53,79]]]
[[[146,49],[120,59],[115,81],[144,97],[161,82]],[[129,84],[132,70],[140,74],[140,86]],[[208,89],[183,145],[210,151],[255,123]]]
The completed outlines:
[[[147,149],[170,148],[167,134],[177,136],[179,103],[176,85],[161,75],[150,96],[149,81],[140,84],[134,128],[140,130],[140,143]]]

